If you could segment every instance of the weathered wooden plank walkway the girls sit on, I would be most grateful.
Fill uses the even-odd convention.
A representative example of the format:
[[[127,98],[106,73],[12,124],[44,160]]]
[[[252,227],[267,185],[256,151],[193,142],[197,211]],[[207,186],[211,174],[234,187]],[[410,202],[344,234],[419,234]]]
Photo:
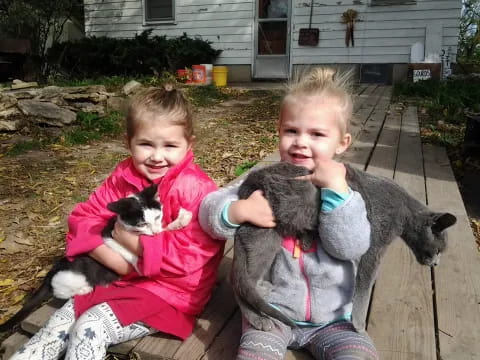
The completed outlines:
[[[383,259],[374,288],[367,330],[381,359],[480,359],[480,257],[468,217],[444,149],[424,145],[416,109],[390,105],[391,88],[362,85],[352,124],[354,143],[343,161],[372,174],[393,178],[433,210],[449,211],[458,223],[434,269],[416,263],[410,250],[395,241]],[[278,161],[273,154],[261,165]],[[112,347],[112,353],[135,352],[147,359],[234,359],[240,339],[240,313],[227,275],[232,262],[227,242],[213,297],[186,341],[155,335]],[[44,306],[22,323],[36,331],[54,311]],[[3,346],[19,346],[14,334]],[[289,352],[287,359],[310,359]]]

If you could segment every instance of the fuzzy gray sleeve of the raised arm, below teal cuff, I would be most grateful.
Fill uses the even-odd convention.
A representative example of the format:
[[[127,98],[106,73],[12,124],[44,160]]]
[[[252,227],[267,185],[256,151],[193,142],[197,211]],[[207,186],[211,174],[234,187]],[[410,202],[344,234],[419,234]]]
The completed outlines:
[[[320,212],[319,235],[323,249],[341,260],[360,258],[370,246],[370,222],[360,193],[352,195],[337,208]]]

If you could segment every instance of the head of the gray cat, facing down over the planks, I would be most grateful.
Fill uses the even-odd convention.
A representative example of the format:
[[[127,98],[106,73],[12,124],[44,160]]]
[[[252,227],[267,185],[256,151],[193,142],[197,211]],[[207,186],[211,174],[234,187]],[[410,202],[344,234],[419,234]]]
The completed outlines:
[[[404,235],[405,241],[420,264],[436,266],[447,247],[446,229],[457,219],[449,213],[429,213],[419,215],[415,221],[418,223]]]

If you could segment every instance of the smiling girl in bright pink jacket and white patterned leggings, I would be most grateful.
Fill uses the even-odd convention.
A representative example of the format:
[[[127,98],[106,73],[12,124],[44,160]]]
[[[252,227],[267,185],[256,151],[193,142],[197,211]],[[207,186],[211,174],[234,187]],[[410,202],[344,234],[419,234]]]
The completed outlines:
[[[131,156],[68,218],[66,255],[89,254],[122,275],[108,287],[77,295],[23,345],[12,359],[103,359],[110,345],[164,332],[185,339],[195,316],[207,303],[223,254],[197,220],[202,199],[215,183],[193,163],[190,105],[179,90],[166,85],[137,96],[127,114]],[[139,257],[138,274],[103,243],[101,231],[113,216],[107,204],[158,184],[163,222],[180,208],[192,213],[179,230],[154,236],[129,232],[116,223],[113,238]]]

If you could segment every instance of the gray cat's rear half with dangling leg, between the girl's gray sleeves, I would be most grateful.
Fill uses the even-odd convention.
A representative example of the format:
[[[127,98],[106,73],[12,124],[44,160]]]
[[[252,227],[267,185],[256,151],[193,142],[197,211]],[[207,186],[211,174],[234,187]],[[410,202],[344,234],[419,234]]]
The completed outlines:
[[[251,172],[238,190],[240,199],[262,190],[276,219],[275,228],[244,223],[235,232],[232,285],[243,316],[258,329],[271,326],[258,312],[295,326],[263,300],[268,291],[264,280],[284,237],[299,239],[307,250],[318,232],[319,191],[310,181],[294,179],[307,174],[304,167],[280,162]]]

